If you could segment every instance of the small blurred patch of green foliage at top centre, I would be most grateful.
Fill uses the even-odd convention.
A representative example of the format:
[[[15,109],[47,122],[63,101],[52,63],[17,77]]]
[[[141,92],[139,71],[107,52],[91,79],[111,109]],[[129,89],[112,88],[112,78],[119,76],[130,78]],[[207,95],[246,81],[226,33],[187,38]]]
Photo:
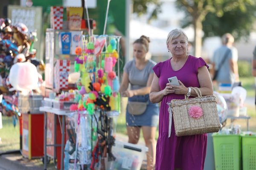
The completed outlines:
[[[154,10],[151,12],[148,20],[156,19],[157,14],[161,12],[161,4],[160,0],[133,0],[133,12],[140,16],[147,13],[149,5],[154,5]]]

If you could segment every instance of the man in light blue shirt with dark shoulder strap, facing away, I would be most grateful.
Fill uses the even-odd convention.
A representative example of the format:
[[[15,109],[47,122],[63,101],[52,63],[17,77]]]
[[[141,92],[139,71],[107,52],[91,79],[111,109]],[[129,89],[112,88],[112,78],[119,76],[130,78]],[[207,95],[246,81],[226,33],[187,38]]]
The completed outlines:
[[[212,79],[214,73],[218,70],[216,76],[216,81],[218,83],[228,83],[233,84],[234,82],[239,82],[238,74],[238,52],[233,46],[234,37],[227,33],[221,37],[222,45],[214,51],[213,57],[211,59],[212,69],[211,75]]]

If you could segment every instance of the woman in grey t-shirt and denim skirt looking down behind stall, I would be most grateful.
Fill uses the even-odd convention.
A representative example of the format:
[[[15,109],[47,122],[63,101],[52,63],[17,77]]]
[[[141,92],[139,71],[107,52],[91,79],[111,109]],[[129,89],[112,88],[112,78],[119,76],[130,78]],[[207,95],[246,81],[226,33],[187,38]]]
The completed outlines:
[[[144,35],[133,43],[134,59],[127,62],[124,66],[120,93],[123,97],[128,97],[129,102],[147,102],[146,110],[140,115],[126,111],[126,125],[128,142],[137,144],[140,139],[140,129],[143,131],[147,153],[147,170],[153,170],[155,164],[156,140],[155,133],[159,116],[157,104],[149,100],[150,85],[154,72],[152,68],[156,63],[146,58],[148,52],[149,38]],[[128,89],[128,85],[131,88]]]

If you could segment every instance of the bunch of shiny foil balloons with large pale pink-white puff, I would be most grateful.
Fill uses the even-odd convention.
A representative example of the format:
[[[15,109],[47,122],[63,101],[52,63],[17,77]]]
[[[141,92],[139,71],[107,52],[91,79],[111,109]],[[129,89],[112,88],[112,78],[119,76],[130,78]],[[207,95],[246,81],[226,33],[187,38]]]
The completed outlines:
[[[17,91],[28,93],[38,88],[38,79],[42,82],[38,72],[44,71],[44,62],[35,57],[36,41],[36,32],[30,32],[24,23],[12,24],[9,18],[0,18],[0,93],[5,94],[1,105],[7,116],[19,114],[15,114],[17,104],[5,102],[6,96],[17,98]]]

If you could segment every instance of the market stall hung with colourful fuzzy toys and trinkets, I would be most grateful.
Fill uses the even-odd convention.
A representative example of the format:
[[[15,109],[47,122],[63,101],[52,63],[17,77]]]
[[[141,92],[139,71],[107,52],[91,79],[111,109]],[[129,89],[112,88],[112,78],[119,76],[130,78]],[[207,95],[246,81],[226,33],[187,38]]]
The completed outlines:
[[[52,28],[46,32],[45,98],[40,108],[45,120],[44,160],[56,159],[57,169],[108,169],[122,161],[112,150],[120,113],[121,37],[93,35],[95,24],[88,18],[83,28],[79,7],[67,7],[63,28],[63,10],[51,8]],[[147,148],[138,150],[143,152],[140,159],[133,158],[135,169],[140,169]]]

